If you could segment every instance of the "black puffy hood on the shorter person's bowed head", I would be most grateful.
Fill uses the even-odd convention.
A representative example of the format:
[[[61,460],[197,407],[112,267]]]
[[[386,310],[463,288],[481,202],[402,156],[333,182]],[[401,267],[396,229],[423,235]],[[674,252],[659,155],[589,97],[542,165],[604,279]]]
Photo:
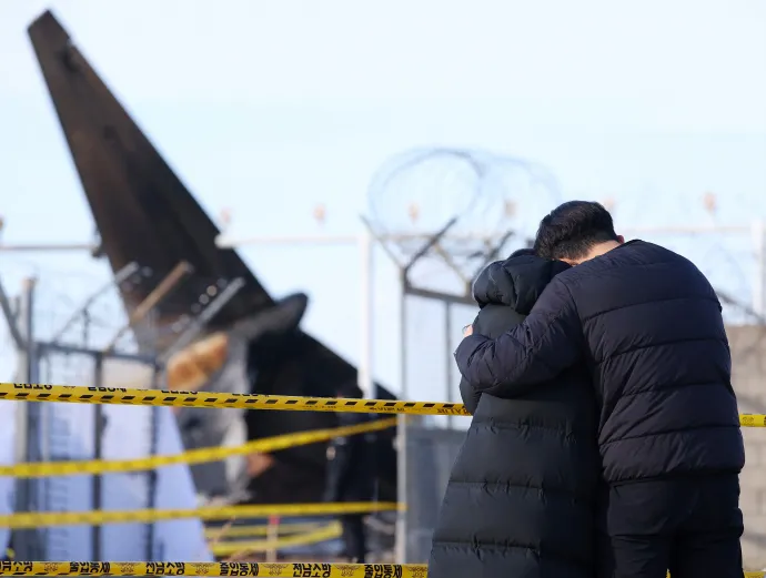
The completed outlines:
[[[528,315],[547,284],[567,268],[563,261],[548,261],[523,249],[482,271],[473,284],[473,297],[480,307],[505,305]]]

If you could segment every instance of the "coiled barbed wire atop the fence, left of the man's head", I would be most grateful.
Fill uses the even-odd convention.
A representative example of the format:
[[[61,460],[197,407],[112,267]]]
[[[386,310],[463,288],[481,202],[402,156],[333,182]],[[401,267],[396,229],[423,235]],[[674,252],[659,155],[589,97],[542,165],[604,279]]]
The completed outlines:
[[[553,173],[537,163],[481,150],[434,148],[386,161],[374,174],[367,199],[371,225],[389,237],[389,251],[402,261],[419,254],[430,236],[454,220],[448,234],[411,271],[411,280],[440,285],[471,278],[504,239],[525,245],[561,193]]]

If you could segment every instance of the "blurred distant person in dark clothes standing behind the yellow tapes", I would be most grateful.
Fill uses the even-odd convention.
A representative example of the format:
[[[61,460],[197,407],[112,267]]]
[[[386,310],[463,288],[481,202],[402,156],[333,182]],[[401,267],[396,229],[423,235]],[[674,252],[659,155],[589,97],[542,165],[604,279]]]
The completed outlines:
[[[346,388],[343,392],[347,392]],[[362,392],[339,393],[337,397],[361,398]],[[367,414],[339,412],[337,426],[354,426],[366,423]],[[327,478],[324,500],[371,501],[374,495],[374,435],[356,434],[333,438],[327,445]],[[343,557],[356,564],[364,564],[367,554],[363,514],[340,516],[343,528]]]

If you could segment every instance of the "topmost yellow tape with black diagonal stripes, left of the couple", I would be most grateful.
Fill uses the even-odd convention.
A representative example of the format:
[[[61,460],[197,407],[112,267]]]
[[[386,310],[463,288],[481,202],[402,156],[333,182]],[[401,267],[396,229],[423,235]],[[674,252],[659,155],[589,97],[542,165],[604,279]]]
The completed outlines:
[[[73,404],[169,405],[174,407],[238,407],[291,412],[351,412],[360,414],[470,415],[463,404],[337,399],[286,395],[167,392],[125,387],[0,383],[0,399],[64,402]]]

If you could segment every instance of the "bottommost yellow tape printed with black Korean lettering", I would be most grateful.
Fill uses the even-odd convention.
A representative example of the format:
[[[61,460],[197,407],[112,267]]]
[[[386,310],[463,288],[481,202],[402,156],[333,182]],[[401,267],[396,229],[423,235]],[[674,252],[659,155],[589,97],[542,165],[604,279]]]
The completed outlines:
[[[0,576],[269,576],[270,578],[426,578],[424,564],[318,562],[0,562]],[[752,572],[747,578],[764,578]]]

